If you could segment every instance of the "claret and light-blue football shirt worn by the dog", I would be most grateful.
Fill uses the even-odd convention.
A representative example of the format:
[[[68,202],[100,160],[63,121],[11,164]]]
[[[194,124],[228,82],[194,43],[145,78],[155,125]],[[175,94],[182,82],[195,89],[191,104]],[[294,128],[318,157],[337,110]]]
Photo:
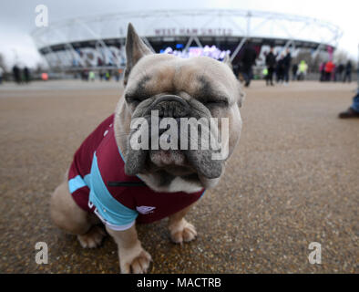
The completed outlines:
[[[80,208],[97,214],[113,230],[126,230],[135,222],[151,223],[175,214],[200,199],[204,189],[197,193],[159,193],[138,176],[128,176],[113,124],[111,115],[74,155],[68,188]]]

